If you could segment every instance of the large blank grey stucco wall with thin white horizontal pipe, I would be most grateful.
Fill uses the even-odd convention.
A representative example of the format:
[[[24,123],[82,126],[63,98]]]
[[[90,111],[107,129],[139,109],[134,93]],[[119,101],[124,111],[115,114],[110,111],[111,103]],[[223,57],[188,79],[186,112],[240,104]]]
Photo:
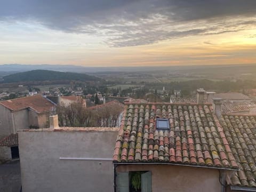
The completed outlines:
[[[19,132],[23,191],[113,191],[112,161],[60,160],[60,157],[111,159],[116,131],[43,130]]]

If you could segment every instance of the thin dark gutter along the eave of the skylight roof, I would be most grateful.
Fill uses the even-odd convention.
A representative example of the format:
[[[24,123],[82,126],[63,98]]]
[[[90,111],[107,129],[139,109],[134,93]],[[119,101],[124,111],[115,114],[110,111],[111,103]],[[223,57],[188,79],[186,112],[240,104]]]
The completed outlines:
[[[235,168],[225,168],[225,167],[210,167],[210,166],[200,166],[200,165],[185,165],[185,164],[175,164],[175,163],[130,163],[130,162],[113,162],[114,165],[179,165],[179,166],[189,166],[189,167],[199,167],[199,168],[210,168],[217,170],[229,170],[229,171],[239,171]]]

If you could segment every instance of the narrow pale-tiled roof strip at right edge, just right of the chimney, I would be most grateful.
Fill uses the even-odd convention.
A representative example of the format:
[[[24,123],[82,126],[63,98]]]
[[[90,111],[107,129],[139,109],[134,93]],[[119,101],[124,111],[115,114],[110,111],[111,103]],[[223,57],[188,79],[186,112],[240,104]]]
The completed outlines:
[[[255,108],[256,105],[248,105],[246,103],[240,103],[240,104],[233,104],[233,103],[223,103],[221,105],[221,111],[222,113],[228,114],[228,113],[236,113],[239,111],[250,111],[250,109]]]

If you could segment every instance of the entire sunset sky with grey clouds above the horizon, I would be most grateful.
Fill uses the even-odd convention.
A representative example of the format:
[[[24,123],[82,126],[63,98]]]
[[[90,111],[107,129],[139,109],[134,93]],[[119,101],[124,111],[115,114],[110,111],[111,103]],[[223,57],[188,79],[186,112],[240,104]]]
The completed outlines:
[[[0,2],[0,65],[256,63],[255,0]]]

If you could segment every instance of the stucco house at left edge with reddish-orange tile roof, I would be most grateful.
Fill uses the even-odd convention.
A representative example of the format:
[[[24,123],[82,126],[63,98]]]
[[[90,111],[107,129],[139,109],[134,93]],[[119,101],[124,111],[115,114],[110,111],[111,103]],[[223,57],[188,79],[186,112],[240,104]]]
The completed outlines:
[[[42,95],[0,102],[0,138],[20,129],[47,127],[49,115],[54,110],[55,105]]]

